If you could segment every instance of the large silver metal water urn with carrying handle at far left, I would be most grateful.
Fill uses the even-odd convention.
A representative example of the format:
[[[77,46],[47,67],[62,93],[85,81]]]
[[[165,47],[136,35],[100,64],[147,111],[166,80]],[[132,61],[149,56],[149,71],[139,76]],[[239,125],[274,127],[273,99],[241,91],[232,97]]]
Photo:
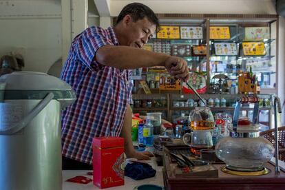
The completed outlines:
[[[0,86],[0,189],[62,189],[60,117],[75,100],[70,85],[14,72]]]

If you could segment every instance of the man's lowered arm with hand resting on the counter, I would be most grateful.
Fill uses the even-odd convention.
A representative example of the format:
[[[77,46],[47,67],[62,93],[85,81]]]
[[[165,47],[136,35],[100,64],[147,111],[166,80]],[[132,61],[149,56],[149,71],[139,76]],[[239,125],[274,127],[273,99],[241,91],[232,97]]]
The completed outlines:
[[[120,132],[120,136],[124,138],[125,141],[125,154],[127,158],[137,158],[138,160],[147,160],[150,156],[153,156],[148,151],[138,152],[134,149],[133,142],[131,140],[131,119],[132,112],[131,107],[127,105],[127,111],[124,118],[123,129]]]

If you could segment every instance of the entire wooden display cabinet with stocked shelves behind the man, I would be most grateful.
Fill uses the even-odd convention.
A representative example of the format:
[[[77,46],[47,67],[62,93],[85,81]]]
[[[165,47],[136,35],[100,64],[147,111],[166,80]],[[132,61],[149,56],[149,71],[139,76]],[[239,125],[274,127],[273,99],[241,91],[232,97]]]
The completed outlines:
[[[215,112],[233,114],[235,98],[242,96],[238,76],[244,76],[244,83],[255,90],[260,102],[259,121],[271,128],[271,101],[277,94],[278,60],[278,17],[275,14],[158,14],[161,30],[145,45],[146,50],[180,56],[187,61],[193,85],[207,101],[220,100],[223,105],[211,107]],[[135,85],[136,98],[145,100],[156,96],[167,96],[164,108],[134,107],[134,111],[155,112],[162,109],[165,118],[173,122],[182,113],[189,114],[198,106],[198,99],[187,91],[182,83],[171,81],[161,67],[142,70],[138,81],[146,81],[152,93],[138,95],[138,81]],[[169,83],[169,89],[162,90],[162,84]],[[172,85],[172,86],[171,86]],[[176,86],[175,86],[176,85]],[[170,90],[172,89],[172,90]],[[246,89],[247,90],[247,89]],[[173,92],[174,91],[174,92]],[[242,92],[242,91],[241,91]],[[169,94],[169,95],[165,95]],[[196,105],[189,106],[192,99]],[[224,105],[224,101],[226,105]],[[215,104],[215,102],[214,102]],[[157,111],[160,111],[157,110]],[[242,107],[241,115],[251,117],[253,107]]]

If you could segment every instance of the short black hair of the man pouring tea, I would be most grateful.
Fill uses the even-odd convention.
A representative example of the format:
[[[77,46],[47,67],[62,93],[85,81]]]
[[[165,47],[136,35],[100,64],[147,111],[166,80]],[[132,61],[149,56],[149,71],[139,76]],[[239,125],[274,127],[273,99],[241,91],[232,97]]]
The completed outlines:
[[[125,6],[123,10],[120,11],[116,24],[122,21],[127,14],[131,16],[131,19],[134,22],[147,17],[151,23],[154,23],[156,25],[156,30],[159,28],[158,17],[156,17],[154,11],[142,3],[129,3],[127,6]]]

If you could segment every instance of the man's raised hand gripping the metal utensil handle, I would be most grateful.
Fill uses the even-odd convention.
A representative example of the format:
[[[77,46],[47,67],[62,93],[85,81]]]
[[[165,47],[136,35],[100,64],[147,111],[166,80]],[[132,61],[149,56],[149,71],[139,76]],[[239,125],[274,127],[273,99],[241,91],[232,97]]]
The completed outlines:
[[[165,67],[171,76],[184,82],[188,81],[189,70],[184,59],[177,56],[169,56],[167,61],[165,61]]]

